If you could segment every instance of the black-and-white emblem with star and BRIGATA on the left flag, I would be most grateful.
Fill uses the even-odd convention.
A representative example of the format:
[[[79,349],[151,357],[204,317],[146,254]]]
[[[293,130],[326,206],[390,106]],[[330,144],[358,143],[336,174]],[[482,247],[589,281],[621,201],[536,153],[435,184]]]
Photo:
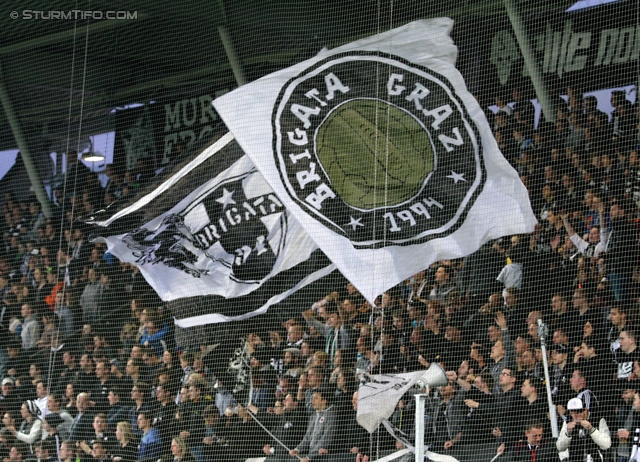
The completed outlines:
[[[252,168],[201,185],[182,211],[135,229],[122,242],[138,266],[163,264],[195,278],[226,276],[253,285],[273,271],[287,232],[282,203]]]

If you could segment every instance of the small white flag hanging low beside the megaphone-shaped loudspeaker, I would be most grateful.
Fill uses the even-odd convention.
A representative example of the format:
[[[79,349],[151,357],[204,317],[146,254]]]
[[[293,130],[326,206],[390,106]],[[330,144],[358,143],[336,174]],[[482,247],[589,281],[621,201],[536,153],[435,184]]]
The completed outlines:
[[[383,420],[391,417],[402,395],[414,386],[425,372],[363,374],[363,383],[358,388],[358,423],[369,433],[376,431]]]

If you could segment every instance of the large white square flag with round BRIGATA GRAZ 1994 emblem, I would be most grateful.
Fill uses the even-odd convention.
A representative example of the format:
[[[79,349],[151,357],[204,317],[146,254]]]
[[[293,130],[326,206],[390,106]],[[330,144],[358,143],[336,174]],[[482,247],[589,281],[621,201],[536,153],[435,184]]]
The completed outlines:
[[[265,76],[214,107],[278,197],[367,300],[536,220],[455,68],[448,18]]]

